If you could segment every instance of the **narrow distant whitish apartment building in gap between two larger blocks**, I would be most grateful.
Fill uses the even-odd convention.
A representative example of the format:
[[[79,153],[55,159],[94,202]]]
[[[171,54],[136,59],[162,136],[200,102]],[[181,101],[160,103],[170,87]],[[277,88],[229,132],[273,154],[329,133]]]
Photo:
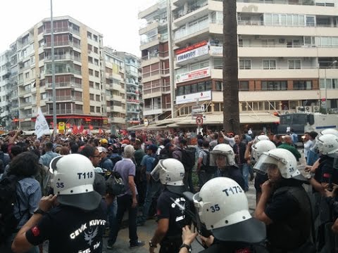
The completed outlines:
[[[137,56],[131,53],[115,51],[125,65],[126,124],[135,126],[143,120],[141,64]]]

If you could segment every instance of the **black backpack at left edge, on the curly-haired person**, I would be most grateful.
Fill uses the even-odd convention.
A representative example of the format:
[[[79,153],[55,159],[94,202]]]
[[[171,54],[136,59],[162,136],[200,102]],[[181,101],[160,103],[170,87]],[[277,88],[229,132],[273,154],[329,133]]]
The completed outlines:
[[[5,176],[0,181],[0,245],[15,232],[19,220],[14,216],[14,205],[17,202],[16,188],[18,176]],[[19,206],[20,210],[20,206]]]

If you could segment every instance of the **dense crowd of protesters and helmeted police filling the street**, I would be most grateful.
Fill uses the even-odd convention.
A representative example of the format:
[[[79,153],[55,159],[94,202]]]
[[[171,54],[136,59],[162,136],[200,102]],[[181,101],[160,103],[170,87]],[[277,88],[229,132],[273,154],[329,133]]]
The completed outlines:
[[[0,140],[0,194],[11,181],[16,193],[15,228],[5,240],[0,234],[0,252],[43,252],[45,240],[51,253],[102,252],[104,236],[106,249],[113,249],[125,212],[131,249],[145,245],[137,227],[156,218],[151,253],[157,247],[189,252],[194,240],[203,252],[338,247],[334,129],[305,133],[303,152],[292,132],[253,136],[251,129],[207,130],[196,135],[196,145],[182,132],[42,138],[20,133]],[[116,175],[123,192],[111,191]],[[251,216],[245,193],[253,180]]]

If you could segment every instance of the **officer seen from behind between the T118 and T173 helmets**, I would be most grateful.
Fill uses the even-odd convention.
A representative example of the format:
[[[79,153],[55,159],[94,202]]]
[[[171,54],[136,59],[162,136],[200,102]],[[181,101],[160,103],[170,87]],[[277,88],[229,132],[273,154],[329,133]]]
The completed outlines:
[[[158,226],[149,241],[149,252],[154,252],[158,244],[161,245],[161,253],[178,252],[182,245],[182,228],[190,223],[185,212],[189,204],[182,195],[186,190],[184,166],[173,158],[160,160],[151,176],[155,181],[161,181],[164,190],[157,200]]]

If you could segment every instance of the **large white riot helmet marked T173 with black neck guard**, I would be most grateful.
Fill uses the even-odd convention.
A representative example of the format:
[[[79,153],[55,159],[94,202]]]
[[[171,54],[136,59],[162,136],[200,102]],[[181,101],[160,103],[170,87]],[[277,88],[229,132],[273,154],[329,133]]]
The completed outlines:
[[[265,239],[265,225],[251,217],[244,190],[236,181],[227,177],[211,179],[193,200],[200,221],[216,239],[249,243]]]

